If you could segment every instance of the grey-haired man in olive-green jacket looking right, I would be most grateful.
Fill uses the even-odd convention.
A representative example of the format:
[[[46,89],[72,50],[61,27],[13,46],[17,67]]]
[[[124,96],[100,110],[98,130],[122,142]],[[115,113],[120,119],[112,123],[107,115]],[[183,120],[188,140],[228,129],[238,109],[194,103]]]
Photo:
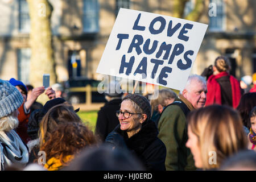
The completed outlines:
[[[187,84],[179,98],[168,105],[158,122],[158,138],[166,145],[167,170],[196,169],[193,156],[187,142],[187,114],[194,109],[204,107],[207,94],[207,82],[199,75],[188,77]]]

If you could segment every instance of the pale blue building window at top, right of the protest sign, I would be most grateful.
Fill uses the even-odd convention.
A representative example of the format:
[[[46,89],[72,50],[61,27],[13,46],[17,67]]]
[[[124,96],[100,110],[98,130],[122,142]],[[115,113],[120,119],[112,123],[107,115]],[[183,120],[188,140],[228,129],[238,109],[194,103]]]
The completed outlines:
[[[225,9],[223,0],[210,0],[209,4],[209,30],[225,30]]]

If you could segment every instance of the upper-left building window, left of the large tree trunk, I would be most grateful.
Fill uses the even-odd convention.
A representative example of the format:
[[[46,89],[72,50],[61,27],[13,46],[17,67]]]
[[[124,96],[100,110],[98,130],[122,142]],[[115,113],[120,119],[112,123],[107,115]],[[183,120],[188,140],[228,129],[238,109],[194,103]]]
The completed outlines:
[[[30,32],[30,15],[26,0],[19,0],[19,31]]]

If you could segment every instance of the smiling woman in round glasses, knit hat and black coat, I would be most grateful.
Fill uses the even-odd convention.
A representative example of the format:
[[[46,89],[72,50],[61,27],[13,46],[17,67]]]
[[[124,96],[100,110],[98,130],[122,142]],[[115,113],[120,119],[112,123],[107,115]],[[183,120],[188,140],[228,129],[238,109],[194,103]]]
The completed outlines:
[[[158,129],[151,121],[151,106],[146,97],[128,94],[116,112],[119,125],[106,142],[135,153],[147,170],[166,170],[166,146],[157,137]]]

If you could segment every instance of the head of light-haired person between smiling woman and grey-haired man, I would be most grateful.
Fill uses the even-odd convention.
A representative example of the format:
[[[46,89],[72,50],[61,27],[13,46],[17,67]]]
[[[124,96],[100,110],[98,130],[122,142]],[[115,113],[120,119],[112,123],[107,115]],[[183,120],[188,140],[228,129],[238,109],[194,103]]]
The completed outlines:
[[[164,107],[174,102],[176,97],[177,94],[171,89],[160,89],[158,98],[156,98],[155,100],[150,100],[150,105],[152,108],[151,115],[153,114],[153,111],[158,111],[159,113],[162,113]]]

